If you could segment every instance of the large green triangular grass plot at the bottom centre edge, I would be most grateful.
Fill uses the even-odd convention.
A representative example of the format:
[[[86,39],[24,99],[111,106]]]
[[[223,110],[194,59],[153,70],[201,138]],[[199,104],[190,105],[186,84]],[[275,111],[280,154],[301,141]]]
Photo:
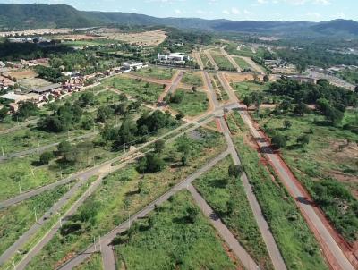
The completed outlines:
[[[188,217],[191,209],[197,211],[193,221]],[[159,207],[158,213],[133,224],[123,239],[115,253],[128,270],[236,269],[188,191],[179,192]]]

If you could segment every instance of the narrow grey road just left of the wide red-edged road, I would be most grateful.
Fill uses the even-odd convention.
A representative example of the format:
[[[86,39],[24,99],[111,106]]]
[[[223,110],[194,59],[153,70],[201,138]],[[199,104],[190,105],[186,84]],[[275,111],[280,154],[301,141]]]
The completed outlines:
[[[240,158],[237,155],[236,149],[234,148],[234,142],[230,137],[230,131],[223,117],[220,118],[220,123],[221,123],[222,131],[224,132],[227,146],[230,149],[231,156],[233,156],[234,165],[241,165]],[[261,207],[256,199],[255,194],[253,193],[251,184],[247,178],[246,173],[243,173],[242,181],[243,181],[243,189],[245,190],[245,193],[249,200],[256,223],[259,226],[262,239],[265,241],[265,244],[268,248],[268,254],[269,257],[271,257],[272,264],[277,270],[286,270],[287,268],[285,265],[284,258],[282,257],[277,247],[276,241],[269,229],[268,223],[266,222],[264,216],[262,215]]]

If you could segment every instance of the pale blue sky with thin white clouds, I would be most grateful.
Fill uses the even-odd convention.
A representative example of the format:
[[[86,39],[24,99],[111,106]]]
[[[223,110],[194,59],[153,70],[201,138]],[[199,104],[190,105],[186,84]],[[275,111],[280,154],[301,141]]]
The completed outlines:
[[[235,21],[358,21],[358,0],[0,0],[0,3],[70,4],[83,11]]]

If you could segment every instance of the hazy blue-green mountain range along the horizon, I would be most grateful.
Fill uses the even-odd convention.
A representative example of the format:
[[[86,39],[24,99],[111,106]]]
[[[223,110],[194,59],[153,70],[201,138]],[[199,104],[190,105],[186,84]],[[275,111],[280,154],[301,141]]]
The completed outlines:
[[[121,25],[163,25],[179,29],[237,31],[266,34],[358,36],[358,22],[229,21],[199,18],[156,18],[137,13],[83,12],[65,4],[0,4],[0,29],[81,28]]]

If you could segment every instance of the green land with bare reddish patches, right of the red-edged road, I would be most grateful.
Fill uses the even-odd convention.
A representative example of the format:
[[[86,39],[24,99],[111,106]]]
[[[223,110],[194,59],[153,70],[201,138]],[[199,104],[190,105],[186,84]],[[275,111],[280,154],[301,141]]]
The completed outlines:
[[[345,123],[353,121],[356,126],[357,115],[348,111]],[[289,129],[284,128],[285,121],[291,122]],[[320,115],[305,114],[270,117],[261,124],[269,136],[275,132],[288,138],[282,149],[285,161],[337,231],[354,242],[358,235],[358,215],[354,212],[358,205],[358,134],[322,122]],[[303,135],[309,138],[308,144],[297,141]]]

